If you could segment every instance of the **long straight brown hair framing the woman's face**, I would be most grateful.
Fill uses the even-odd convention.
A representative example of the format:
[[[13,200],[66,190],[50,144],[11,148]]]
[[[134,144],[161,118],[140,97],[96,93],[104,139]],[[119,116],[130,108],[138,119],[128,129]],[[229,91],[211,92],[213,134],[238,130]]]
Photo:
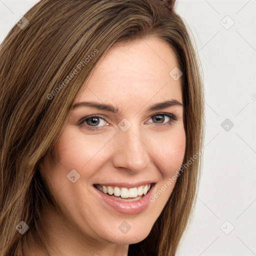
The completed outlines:
[[[49,156],[82,85],[116,43],[155,36],[174,50],[182,71],[186,150],[202,149],[203,89],[194,46],[175,10],[161,0],[41,0],[0,48],[0,255],[24,255],[28,233],[44,248],[40,209],[57,207],[39,164]],[[87,55],[95,52],[86,64]],[[68,79],[78,63],[81,71]],[[64,81],[64,82],[63,82]],[[62,84],[62,86],[61,86]],[[58,89],[57,89],[58,88]],[[201,163],[180,172],[149,235],[128,255],[172,256],[193,209]],[[15,226],[23,220],[29,232]]]

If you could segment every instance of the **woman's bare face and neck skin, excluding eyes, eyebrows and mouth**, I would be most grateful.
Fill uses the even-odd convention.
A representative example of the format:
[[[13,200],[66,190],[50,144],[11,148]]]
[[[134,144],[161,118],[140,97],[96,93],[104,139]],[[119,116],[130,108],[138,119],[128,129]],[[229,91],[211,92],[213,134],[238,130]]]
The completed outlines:
[[[48,173],[48,185],[61,209],[61,215],[49,207],[42,211],[42,231],[51,241],[51,255],[125,256],[129,244],[150,232],[175,181],[139,214],[119,213],[96,199],[93,184],[149,179],[156,182],[155,193],[178,170],[185,152],[183,106],[145,111],[165,100],[182,103],[181,81],[169,75],[176,66],[172,49],[153,37],[115,45],[98,62],[76,103],[113,104],[122,114],[75,107],[55,144],[53,166],[41,170]],[[176,120],[160,126],[171,120],[161,115],[157,121],[153,116],[161,112],[175,115]],[[86,129],[93,125],[88,120],[78,124],[97,114],[104,118],[94,124],[101,129]],[[132,124],[125,132],[118,126],[123,118]],[[75,183],[66,177],[72,169],[80,175]],[[125,234],[118,229],[123,221],[131,226]]]

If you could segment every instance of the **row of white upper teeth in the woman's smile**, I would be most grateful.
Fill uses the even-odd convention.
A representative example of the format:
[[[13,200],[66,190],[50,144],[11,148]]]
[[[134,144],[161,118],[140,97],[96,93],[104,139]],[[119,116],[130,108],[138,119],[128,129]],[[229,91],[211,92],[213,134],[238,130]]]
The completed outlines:
[[[138,195],[146,194],[150,189],[150,184],[141,185],[138,187],[118,187],[118,186],[105,186],[105,185],[96,185],[96,187],[103,193],[109,195],[114,194],[115,196],[121,196],[122,198],[128,197],[137,197]]]

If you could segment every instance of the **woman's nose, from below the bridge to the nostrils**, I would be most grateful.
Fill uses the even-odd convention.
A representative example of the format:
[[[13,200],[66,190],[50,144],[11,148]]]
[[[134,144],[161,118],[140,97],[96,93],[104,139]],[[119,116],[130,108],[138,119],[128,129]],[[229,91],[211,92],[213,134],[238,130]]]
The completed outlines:
[[[119,129],[115,135],[113,165],[133,173],[143,171],[150,162],[148,152],[145,136],[141,137],[135,125],[126,131]]]

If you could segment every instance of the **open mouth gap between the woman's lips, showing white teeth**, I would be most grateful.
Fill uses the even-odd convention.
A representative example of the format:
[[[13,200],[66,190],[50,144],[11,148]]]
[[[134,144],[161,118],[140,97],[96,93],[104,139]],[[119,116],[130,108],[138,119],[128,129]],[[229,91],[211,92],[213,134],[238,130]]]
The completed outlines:
[[[122,201],[136,201],[145,196],[155,183],[143,184],[134,187],[116,185],[93,184],[101,193]]]

